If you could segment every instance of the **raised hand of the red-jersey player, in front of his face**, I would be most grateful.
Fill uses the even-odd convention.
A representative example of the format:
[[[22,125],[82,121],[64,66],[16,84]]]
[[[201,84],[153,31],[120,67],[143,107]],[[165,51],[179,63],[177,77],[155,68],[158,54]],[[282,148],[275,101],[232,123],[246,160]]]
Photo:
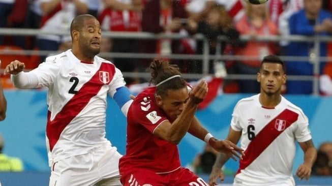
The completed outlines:
[[[207,88],[207,83],[203,79],[201,80],[197,86],[195,86],[189,93],[189,103],[198,105],[201,103],[207,94],[208,88]]]

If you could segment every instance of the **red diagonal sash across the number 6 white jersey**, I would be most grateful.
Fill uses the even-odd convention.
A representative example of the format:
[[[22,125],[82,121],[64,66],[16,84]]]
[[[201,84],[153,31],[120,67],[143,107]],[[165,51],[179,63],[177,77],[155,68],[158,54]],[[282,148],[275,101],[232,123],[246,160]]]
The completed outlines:
[[[236,174],[241,170],[247,168],[281,133],[283,133],[288,127],[290,127],[298,118],[298,114],[285,109],[277,117],[271,120],[267,125],[255,136],[248,148],[245,150],[246,156],[243,160],[240,160],[239,168]],[[276,122],[278,119],[284,120],[284,130],[278,131],[276,129]]]

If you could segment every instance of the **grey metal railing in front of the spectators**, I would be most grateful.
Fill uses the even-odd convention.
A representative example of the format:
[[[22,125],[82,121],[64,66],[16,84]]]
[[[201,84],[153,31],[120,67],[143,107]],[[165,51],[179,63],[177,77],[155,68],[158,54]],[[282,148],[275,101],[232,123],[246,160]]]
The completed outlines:
[[[22,28],[0,28],[0,35],[3,36],[37,36],[42,34],[52,34],[52,35],[61,35],[61,36],[69,36],[68,32],[43,32],[40,29],[22,29]],[[209,60],[217,59],[217,60],[260,60],[259,56],[244,56],[244,55],[210,55],[209,54],[209,43],[206,38],[204,38],[201,34],[196,34],[194,36],[184,36],[182,34],[153,34],[153,33],[134,33],[134,32],[103,32],[103,37],[109,37],[112,39],[172,39],[172,40],[180,40],[185,38],[192,38],[196,41],[203,42],[203,52],[202,54],[156,54],[156,53],[119,53],[119,52],[103,52],[100,53],[101,57],[109,57],[112,56],[114,58],[157,58],[164,57],[168,59],[192,59],[192,60],[202,60],[202,73],[201,74],[183,74],[185,78],[201,78],[208,75],[208,65]],[[218,38],[218,47],[220,46],[220,41],[227,41],[225,37]],[[250,41],[252,38],[247,35],[240,36],[240,40],[242,41]],[[289,80],[305,80],[305,81],[313,81],[313,95],[319,95],[319,64],[321,61],[330,62],[332,61],[332,57],[323,57],[319,56],[320,53],[320,42],[332,42],[332,37],[307,37],[307,36],[258,36],[255,38],[258,42],[279,42],[279,41],[297,41],[297,42],[313,42],[314,43],[314,53],[315,57],[310,56],[280,56],[284,61],[312,61],[313,63],[313,76],[287,76]],[[54,51],[46,51],[39,50],[36,53],[35,50],[24,50],[24,54],[22,51],[17,50],[0,50],[0,55],[2,54],[14,54],[14,55],[48,55],[53,53]],[[133,72],[123,72],[125,77],[143,77],[148,78],[150,75],[148,73],[133,73]],[[225,79],[256,79],[256,75],[245,75],[245,74],[229,74]]]

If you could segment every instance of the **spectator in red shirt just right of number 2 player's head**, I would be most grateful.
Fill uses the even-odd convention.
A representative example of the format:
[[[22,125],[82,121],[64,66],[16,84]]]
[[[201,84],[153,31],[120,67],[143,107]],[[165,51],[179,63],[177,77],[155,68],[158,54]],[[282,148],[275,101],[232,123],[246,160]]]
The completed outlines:
[[[104,30],[111,32],[141,32],[142,0],[103,0],[105,9],[99,15]],[[112,38],[109,52],[137,53],[139,39]],[[137,71],[137,58],[114,57],[115,66],[122,72]],[[139,78],[125,78],[128,84],[138,83]]]

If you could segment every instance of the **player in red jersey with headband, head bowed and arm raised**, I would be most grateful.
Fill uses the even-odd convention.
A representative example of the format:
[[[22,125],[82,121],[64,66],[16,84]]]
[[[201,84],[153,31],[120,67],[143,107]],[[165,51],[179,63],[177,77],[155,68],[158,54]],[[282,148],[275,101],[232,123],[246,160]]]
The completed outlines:
[[[177,144],[187,132],[234,160],[243,149],[217,140],[195,118],[197,105],[207,94],[202,80],[191,88],[176,65],[154,60],[148,71],[150,87],[137,95],[127,115],[126,154],[120,159],[123,185],[202,185],[207,183],[180,165]]]

